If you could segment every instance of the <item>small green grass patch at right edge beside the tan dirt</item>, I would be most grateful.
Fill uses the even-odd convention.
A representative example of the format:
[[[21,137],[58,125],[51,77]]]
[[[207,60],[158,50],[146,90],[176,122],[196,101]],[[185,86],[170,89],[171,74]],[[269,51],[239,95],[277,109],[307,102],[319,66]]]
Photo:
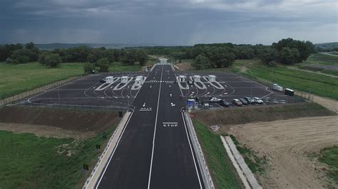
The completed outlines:
[[[329,166],[329,178],[338,185],[338,146],[324,148],[320,151],[319,161]]]

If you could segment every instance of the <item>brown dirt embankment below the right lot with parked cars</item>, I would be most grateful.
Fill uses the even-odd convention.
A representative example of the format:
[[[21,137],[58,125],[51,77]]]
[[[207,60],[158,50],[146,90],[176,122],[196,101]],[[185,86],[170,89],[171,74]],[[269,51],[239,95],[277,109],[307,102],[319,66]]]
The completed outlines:
[[[195,117],[208,125],[226,127],[255,121],[275,121],[297,117],[319,117],[335,115],[334,112],[315,103],[276,104],[270,106],[233,107],[222,110],[194,112]]]

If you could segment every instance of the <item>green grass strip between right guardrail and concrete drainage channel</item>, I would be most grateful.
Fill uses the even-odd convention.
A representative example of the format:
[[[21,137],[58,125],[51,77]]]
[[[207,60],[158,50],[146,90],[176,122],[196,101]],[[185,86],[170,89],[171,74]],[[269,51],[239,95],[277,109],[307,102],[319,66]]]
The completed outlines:
[[[217,188],[243,188],[242,182],[227,156],[220,135],[213,134],[209,131],[208,126],[198,119],[194,119],[193,122]]]

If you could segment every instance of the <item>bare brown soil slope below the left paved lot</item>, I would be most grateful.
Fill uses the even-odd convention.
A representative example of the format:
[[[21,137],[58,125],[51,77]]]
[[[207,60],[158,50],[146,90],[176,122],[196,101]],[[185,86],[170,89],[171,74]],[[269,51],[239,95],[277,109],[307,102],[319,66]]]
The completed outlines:
[[[4,107],[0,109],[0,122],[55,126],[71,131],[105,131],[118,124],[117,112],[82,112],[68,109],[42,109],[34,107]]]

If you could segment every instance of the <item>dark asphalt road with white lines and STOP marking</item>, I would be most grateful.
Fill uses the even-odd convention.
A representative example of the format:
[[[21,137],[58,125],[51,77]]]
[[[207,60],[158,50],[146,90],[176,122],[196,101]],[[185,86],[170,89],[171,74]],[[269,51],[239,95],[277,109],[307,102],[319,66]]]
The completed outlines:
[[[170,65],[157,65],[97,188],[203,188]]]

